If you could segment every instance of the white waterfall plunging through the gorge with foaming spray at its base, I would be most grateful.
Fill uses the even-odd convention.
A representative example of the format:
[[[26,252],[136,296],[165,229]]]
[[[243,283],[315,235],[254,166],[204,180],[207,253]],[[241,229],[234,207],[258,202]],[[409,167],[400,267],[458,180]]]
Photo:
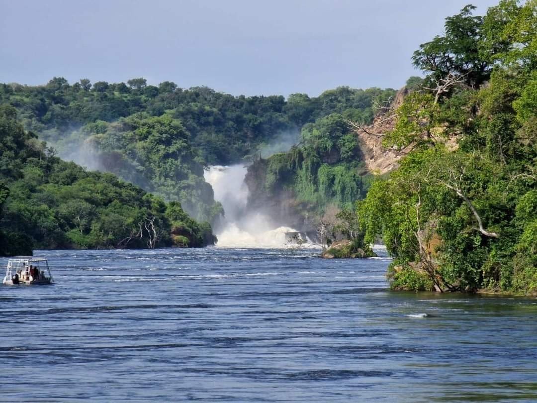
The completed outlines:
[[[246,167],[214,165],[205,172],[205,181],[214,190],[214,198],[222,203],[226,216],[214,228],[217,247],[285,248],[292,246],[287,233],[290,227],[276,227],[263,211],[247,212],[248,188],[244,183]]]

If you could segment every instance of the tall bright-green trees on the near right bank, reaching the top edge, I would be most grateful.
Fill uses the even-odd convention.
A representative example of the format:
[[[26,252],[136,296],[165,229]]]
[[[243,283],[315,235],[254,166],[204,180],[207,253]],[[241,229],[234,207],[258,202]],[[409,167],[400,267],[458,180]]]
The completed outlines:
[[[537,291],[537,2],[473,10],[413,54],[383,139],[412,150],[358,205],[394,289]]]

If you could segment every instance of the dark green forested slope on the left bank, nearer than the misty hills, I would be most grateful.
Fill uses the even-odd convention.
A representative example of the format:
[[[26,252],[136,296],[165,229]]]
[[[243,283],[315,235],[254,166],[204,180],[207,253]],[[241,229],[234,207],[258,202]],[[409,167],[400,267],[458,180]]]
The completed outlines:
[[[155,248],[214,243],[211,226],[112,174],[53,155],[0,105],[0,255],[33,248]]]

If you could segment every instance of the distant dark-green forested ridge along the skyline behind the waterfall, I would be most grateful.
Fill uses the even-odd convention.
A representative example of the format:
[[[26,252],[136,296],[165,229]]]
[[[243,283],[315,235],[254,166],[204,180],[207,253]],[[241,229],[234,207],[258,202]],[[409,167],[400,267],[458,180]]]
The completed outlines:
[[[0,103],[18,110],[24,127],[55,143],[66,131],[96,121],[112,122],[134,114],[169,116],[180,120],[207,164],[230,164],[268,143],[282,131],[342,113],[367,123],[373,103],[383,102],[393,90],[339,87],[318,97],[295,93],[274,96],[232,96],[207,87],[178,88],[165,81],[148,85],[144,78],[109,84],[87,79],[69,84],[54,77],[46,85],[0,84]],[[141,115],[140,115],[141,114]]]

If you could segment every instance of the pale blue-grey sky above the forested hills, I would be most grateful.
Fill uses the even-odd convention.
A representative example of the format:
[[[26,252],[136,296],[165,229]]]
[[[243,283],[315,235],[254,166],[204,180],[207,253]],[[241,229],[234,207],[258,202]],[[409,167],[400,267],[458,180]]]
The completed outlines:
[[[173,81],[234,95],[400,88],[463,0],[0,0],[0,82]],[[483,14],[497,0],[474,0]]]

